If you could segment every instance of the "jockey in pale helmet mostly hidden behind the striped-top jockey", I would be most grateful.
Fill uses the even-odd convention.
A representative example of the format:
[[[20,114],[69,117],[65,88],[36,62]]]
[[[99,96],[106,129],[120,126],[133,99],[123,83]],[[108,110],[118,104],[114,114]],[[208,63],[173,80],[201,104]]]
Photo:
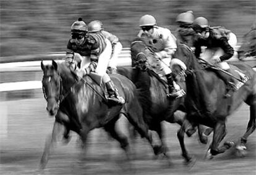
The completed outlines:
[[[118,55],[122,51],[122,44],[119,41],[119,38],[117,38],[116,35],[113,35],[112,33],[109,33],[108,31],[105,31],[103,28],[103,24],[99,20],[93,20],[92,22],[88,23],[88,33],[102,33],[112,45],[112,54],[111,58],[108,63],[108,69],[111,72],[116,72],[117,69],[117,58]]]

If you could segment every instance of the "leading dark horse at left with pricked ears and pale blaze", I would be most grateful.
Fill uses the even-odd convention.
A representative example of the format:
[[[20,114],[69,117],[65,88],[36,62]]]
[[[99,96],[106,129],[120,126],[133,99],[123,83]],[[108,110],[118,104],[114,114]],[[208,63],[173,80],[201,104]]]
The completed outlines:
[[[69,138],[69,131],[79,134],[83,144],[87,134],[94,128],[103,127],[121,144],[121,148],[128,153],[127,137],[116,131],[114,124],[120,113],[124,114],[142,137],[151,142],[151,135],[143,121],[142,107],[137,99],[137,90],[129,79],[122,75],[111,75],[111,79],[126,104],[109,107],[105,101],[104,89],[98,86],[90,76],[78,78],[67,63],[52,62],[43,65],[43,92],[47,100],[47,110],[55,116],[53,132],[46,140],[45,150],[41,157],[40,168],[46,166],[49,150],[58,136]]]

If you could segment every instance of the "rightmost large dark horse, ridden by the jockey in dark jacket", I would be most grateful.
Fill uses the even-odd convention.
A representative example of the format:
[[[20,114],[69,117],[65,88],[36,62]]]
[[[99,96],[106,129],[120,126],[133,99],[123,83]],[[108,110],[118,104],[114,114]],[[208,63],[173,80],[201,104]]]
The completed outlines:
[[[230,98],[224,98],[226,85],[211,68],[205,69],[198,62],[192,50],[184,44],[180,44],[176,52],[176,58],[185,63],[187,69],[181,70],[176,67],[177,71],[186,73],[186,108],[187,120],[191,123],[204,124],[213,128],[213,141],[209,147],[208,155],[218,155],[228,150],[234,145],[234,142],[226,141],[220,145],[226,135],[226,119],[231,115],[242,102],[250,106],[250,120],[244,136],[241,137],[237,150],[244,151],[247,137],[255,130],[256,118],[256,73],[244,63],[232,63],[231,68],[239,70],[249,76],[249,80]],[[189,155],[184,147],[184,126],[178,133],[181,141],[184,158]]]

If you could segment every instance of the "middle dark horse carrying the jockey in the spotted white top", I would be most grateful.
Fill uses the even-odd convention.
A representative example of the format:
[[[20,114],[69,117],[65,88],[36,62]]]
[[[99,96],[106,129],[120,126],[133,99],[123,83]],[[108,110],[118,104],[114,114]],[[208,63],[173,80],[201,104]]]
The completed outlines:
[[[163,142],[161,121],[177,123],[182,126],[184,116],[174,115],[177,110],[184,109],[184,97],[179,99],[169,99],[168,85],[153,71],[150,66],[154,65],[155,57],[148,50],[143,39],[135,39],[130,46],[132,52],[132,62],[134,68],[118,68],[117,73],[127,76],[131,79],[139,91],[139,100],[143,107],[145,122],[150,130],[156,131],[161,140],[156,154],[164,153],[166,155],[167,147]],[[157,65],[156,65],[157,67]],[[181,83],[183,89],[186,84]],[[196,130],[194,128],[187,130],[188,136],[191,136]],[[203,136],[203,129],[198,129],[201,142],[207,143],[207,137]]]

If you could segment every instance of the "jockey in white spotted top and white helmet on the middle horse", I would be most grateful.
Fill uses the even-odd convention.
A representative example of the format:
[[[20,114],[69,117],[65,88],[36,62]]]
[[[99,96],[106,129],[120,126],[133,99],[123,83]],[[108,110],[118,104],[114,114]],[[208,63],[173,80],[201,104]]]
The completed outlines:
[[[143,15],[139,20],[139,26],[141,28],[137,35],[139,38],[163,40],[164,48],[154,54],[155,58],[160,60],[160,67],[168,81],[168,96],[176,98],[184,96],[184,90],[174,82],[171,68],[169,68],[171,57],[177,49],[176,38],[168,28],[156,26],[156,19],[151,15]]]

